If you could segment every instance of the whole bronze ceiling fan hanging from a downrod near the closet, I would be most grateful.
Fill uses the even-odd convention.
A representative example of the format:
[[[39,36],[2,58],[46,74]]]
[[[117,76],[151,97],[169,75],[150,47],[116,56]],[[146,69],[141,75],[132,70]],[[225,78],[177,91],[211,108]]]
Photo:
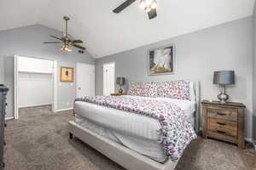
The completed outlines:
[[[64,31],[63,37],[55,37],[55,36],[52,36],[52,35],[49,36],[49,37],[53,37],[57,40],[60,40],[61,42],[43,42],[43,43],[62,43],[61,50],[63,50],[63,51],[69,51],[69,52],[72,51],[70,46],[85,50],[84,47],[77,44],[77,43],[83,43],[82,40],[72,40],[71,38],[67,37],[67,35],[68,35],[67,34],[67,20],[69,20],[69,17],[64,16],[63,18],[65,20],[65,25],[66,25],[66,30]]]

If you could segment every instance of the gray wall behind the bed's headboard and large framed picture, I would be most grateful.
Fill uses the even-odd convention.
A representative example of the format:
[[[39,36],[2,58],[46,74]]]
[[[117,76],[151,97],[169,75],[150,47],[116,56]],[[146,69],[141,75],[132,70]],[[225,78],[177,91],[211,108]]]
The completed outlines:
[[[200,81],[201,99],[217,99],[218,87],[212,84],[213,71],[234,70],[236,71],[236,85],[228,87],[227,93],[230,94],[231,101],[247,105],[245,133],[247,138],[252,138],[252,23],[252,17],[247,17],[96,59],[96,94],[102,94],[102,65],[111,61],[115,61],[116,76],[124,76],[131,82],[161,82],[177,79]],[[148,76],[148,49],[172,43],[176,46],[175,74]]]

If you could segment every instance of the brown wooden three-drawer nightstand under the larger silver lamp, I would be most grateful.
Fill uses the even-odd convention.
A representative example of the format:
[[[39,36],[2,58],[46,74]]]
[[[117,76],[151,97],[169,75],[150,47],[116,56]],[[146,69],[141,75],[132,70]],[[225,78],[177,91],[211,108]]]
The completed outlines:
[[[203,100],[202,104],[202,135],[245,148],[244,142],[244,109],[241,103]]]

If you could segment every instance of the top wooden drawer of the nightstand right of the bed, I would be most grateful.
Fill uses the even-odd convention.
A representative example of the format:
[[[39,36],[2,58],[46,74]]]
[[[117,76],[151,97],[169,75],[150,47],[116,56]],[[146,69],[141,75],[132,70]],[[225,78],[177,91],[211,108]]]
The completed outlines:
[[[237,122],[237,109],[224,107],[207,107],[207,116]]]

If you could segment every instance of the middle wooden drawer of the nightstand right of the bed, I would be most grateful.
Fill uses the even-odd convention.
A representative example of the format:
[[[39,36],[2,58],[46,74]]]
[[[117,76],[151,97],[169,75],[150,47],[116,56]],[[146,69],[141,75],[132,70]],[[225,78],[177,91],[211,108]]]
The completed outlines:
[[[207,119],[207,129],[218,134],[237,136],[237,122],[209,118]]]

